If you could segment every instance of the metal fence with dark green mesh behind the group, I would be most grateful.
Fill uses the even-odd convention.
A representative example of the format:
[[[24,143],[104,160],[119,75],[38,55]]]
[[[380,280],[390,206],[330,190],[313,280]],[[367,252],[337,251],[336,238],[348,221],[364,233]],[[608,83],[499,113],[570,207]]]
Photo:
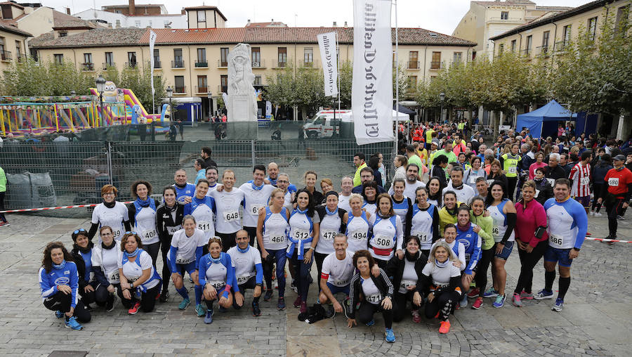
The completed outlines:
[[[84,135],[98,136],[94,132]],[[194,181],[193,161],[204,146],[211,148],[220,175],[232,169],[238,184],[252,178],[254,164],[277,162],[296,186],[303,187],[303,174],[313,170],[318,173],[319,190],[320,180],[326,177],[339,189],[342,176],[355,172],[355,152],[364,152],[367,160],[381,152],[387,170],[393,162],[393,142],[358,146],[349,139],[5,142],[0,148],[0,167],[8,176],[6,208],[98,203],[100,188],[106,183],[119,189],[117,200],[131,200],[130,186],[141,178],[152,183],[154,194],[160,194],[173,183],[176,169],[185,169],[188,181]],[[25,172],[44,174],[50,184],[43,188],[34,178],[15,176]],[[60,209],[39,214],[88,216],[90,212]]]

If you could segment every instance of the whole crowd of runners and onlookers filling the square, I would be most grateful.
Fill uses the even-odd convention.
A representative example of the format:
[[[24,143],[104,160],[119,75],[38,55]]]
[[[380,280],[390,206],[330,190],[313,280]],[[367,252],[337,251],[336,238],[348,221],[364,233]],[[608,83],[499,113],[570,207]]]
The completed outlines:
[[[344,313],[353,327],[374,325],[381,313],[387,342],[395,342],[393,322],[407,314],[415,323],[437,319],[445,334],[456,310],[480,309],[485,298],[501,308],[507,299],[520,307],[555,297],[551,309],[561,311],[572,261],[590,234],[588,212],[598,216],[605,205],[609,238],[617,236],[631,199],[632,153],[626,158],[583,138],[536,140],[509,131],[488,147],[478,133],[466,142],[458,126],[419,130],[420,141],[404,145],[393,167],[380,152],[369,160],[357,152],[355,173],[339,183],[306,171],[298,188],[270,162],[237,186],[235,171],[220,176],[210,148],[202,148],[194,183],[178,169],[162,200],[144,180],[131,185],[131,205],[105,185],[91,227],[72,233],[70,252],[61,242],[44,250],[44,306],[81,330],[91,304],[112,311],[118,298],[129,314],[148,313],[169,300],[171,281],[185,310],[187,273],[204,323],[216,310],[242,309],[248,290],[259,316],[262,297],[277,294],[276,308],[286,309],[287,269],[299,319]],[[514,247],[521,268],[512,294],[505,264]],[[545,284],[535,288],[533,270],[543,257]],[[308,301],[314,261],[318,292]]]

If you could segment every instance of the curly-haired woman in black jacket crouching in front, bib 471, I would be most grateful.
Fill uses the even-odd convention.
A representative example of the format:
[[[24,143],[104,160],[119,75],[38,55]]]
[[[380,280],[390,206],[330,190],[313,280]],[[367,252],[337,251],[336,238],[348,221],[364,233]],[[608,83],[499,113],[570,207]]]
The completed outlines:
[[[353,327],[357,325],[355,320],[355,304],[360,301],[360,309],[357,310],[357,319],[367,326],[375,324],[373,315],[381,312],[384,318],[386,331],[386,342],[395,342],[393,332],[393,284],[390,283],[386,273],[380,269],[378,277],[371,275],[371,266],[375,265],[375,260],[368,250],[358,250],[353,254],[353,266],[358,273],[351,278],[349,297],[350,304],[347,311],[347,325]],[[362,300],[360,300],[362,294]]]

